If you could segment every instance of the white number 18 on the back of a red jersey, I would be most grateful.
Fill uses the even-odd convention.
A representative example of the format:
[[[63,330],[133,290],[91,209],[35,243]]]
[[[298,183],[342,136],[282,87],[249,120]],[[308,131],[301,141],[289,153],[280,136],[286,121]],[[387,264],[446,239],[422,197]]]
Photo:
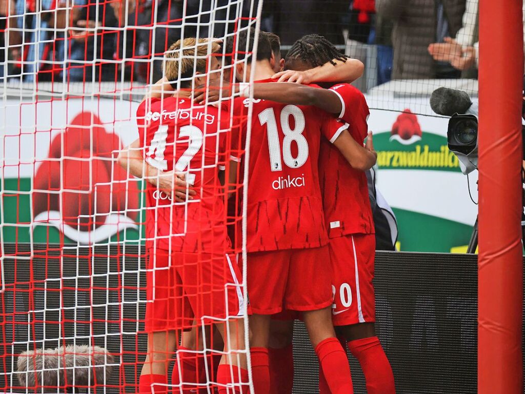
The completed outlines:
[[[290,115],[293,116],[295,120],[295,128],[293,128],[293,130],[290,128]],[[265,123],[267,125],[271,170],[282,171],[279,131],[277,129],[274,109],[267,108],[259,113],[259,121],[261,126],[264,126]],[[302,135],[304,126],[306,126],[304,114],[299,107],[288,105],[283,108],[280,113],[280,123],[282,132],[285,134],[285,138],[282,140],[282,159],[288,167],[299,168],[306,163],[308,159],[308,141]],[[291,153],[292,141],[297,143],[297,157],[293,157]]]

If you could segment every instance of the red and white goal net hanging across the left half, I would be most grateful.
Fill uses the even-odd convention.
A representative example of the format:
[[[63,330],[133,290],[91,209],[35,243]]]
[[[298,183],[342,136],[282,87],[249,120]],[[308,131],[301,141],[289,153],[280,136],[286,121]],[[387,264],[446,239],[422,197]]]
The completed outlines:
[[[192,97],[261,3],[0,1],[0,392],[249,392],[234,98]]]

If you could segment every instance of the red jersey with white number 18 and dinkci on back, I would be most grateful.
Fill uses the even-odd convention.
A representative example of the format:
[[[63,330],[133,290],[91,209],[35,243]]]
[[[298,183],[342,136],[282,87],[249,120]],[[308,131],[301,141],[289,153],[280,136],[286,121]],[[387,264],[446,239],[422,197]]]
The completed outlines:
[[[237,116],[247,115],[249,100],[235,99]],[[319,146],[321,135],[334,141],[346,127],[315,107],[254,100],[248,166],[248,252],[328,243],[319,187]],[[234,136],[232,140],[238,139]]]

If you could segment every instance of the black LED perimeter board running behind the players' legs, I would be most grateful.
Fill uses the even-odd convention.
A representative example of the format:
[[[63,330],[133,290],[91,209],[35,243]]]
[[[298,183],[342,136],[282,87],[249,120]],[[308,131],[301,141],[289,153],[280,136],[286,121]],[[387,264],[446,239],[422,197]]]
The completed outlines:
[[[4,250],[0,387],[18,385],[12,371],[24,350],[95,344],[115,355],[107,392],[135,392],[146,350],[145,336],[137,334],[145,306],[143,250],[36,245],[31,258],[29,245]],[[477,256],[378,252],[375,289],[377,331],[397,392],[477,392]],[[293,345],[293,392],[318,392],[317,359],[299,322]],[[354,390],[365,393],[361,369],[349,358]]]

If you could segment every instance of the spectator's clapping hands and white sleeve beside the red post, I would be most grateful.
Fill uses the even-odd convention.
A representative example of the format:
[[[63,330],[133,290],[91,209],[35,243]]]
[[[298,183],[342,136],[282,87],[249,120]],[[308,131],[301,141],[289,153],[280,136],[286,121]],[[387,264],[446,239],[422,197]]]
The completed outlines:
[[[523,13],[525,14],[525,3]],[[525,26],[523,38],[525,39]],[[458,70],[478,68],[478,40],[478,0],[467,0],[463,27],[459,29],[456,39],[445,37],[444,43],[430,44],[428,53],[435,60],[446,61]]]

